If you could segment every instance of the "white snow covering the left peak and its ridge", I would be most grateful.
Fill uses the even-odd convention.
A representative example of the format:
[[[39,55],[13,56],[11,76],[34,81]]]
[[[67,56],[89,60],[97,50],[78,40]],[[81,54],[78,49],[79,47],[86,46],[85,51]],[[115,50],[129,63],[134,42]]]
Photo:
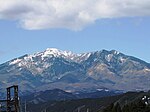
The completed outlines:
[[[80,62],[88,59],[91,54],[92,53],[75,54],[71,51],[63,51],[63,50],[59,50],[56,48],[47,48],[43,52],[37,52],[37,53],[31,54],[31,55],[26,55],[24,57],[17,58],[13,61],[10,61],[9,65],[18,64],[18,66],[27,66],[27,65],[32,65],[32,64],[38,64],[38,63],[43,63],[42,61],[45,58],[51,58],[51,57],[61,57],[61,58],[65,58],[67,60],[71,60],[71,61],[80,63]],[[39,61],[37,61],[37,60],[35,61],[36,57],[38,57]]]

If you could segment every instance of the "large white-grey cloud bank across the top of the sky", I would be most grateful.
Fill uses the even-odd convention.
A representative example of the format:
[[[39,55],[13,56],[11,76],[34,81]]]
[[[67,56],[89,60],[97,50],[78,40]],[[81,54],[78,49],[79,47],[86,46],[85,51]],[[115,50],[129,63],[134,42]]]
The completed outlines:
[[[0,19],[29,30],[81,30],[96,20],[150,16],[150,0],[0,0]]]

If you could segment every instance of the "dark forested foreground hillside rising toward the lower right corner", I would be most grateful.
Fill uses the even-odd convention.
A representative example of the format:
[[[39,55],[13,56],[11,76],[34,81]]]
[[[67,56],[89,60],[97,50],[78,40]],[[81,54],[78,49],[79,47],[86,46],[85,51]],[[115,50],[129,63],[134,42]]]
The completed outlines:
[[[150,112],[149,99],[150,92],[127,92],[103,98],[28,103],[27,108],[30,112]]]

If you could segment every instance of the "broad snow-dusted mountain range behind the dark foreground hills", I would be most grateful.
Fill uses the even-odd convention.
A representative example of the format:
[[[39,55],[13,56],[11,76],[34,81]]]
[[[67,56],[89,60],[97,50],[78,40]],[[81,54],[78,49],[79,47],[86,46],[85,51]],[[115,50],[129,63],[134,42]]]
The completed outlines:
[[[20,94],[62,89],[140,91],[150,89],[150,64],[115,50],[75,54],[48,48],[0,64],[0,90],[18,84]]]

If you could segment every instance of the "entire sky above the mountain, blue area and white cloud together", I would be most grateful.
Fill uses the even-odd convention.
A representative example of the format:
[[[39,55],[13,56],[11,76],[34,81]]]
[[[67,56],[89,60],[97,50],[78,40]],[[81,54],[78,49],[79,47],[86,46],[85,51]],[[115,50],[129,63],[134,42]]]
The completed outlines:
[[[150,63],[150,0],[0,0],[0,63],[46,48]]]

